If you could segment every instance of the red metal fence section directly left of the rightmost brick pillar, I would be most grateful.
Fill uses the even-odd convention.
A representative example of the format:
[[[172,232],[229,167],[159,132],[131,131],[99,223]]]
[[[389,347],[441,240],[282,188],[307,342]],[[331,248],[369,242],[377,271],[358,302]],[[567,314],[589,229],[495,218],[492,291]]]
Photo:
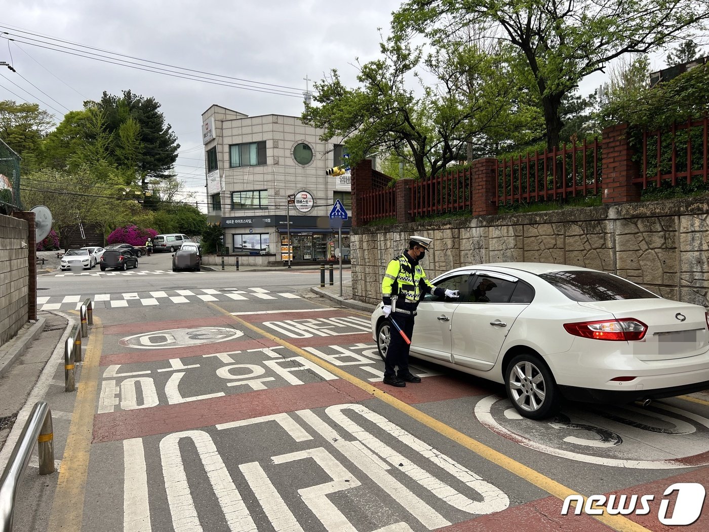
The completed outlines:
[[[598,194],[601,184],[601,146],[598,138],[561,150],[535,153],[498,161],[496,199],[498,205],[522,201],[545,201]]]

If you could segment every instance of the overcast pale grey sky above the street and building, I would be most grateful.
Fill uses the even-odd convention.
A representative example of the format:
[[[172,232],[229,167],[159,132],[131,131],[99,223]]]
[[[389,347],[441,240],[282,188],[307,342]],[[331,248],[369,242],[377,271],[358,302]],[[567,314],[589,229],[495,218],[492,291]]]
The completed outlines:
[[[0,39],[0,62],[17,71],[0,67],[0,99],[39,103],[58,123],[62,113],[83,109],[84,100],[100,99],[104,91],[121,94],[130,89],[154,97],[180,144],[175,170],[185,186],[197,192],[204,210],[201,113],[219,104],[250,116],[299,116],[306,74],[320,80],[337,68],[353,86],[355,58],[366,62],[378,55],[378,28],[388,32],[391,12],[400,4],[401,0],[0,0],[0,31],[16,39]],[[51,38],[56,40],[46,44]],[[45,48],[33,39],[44,41],[40,46]],[[241,83],[252,89],[294,95],[223,87],[78,57],[72,55],[75,51],[57,51],[60,46],[77,48],[59,40],[199,70],[206,74],[197,75],[214,81],[218,79],[211,74],[220,74],[248,80]],[[593,92],[602,81],[596,79],[585,82],[587,90],[582,85],[581,92]]]

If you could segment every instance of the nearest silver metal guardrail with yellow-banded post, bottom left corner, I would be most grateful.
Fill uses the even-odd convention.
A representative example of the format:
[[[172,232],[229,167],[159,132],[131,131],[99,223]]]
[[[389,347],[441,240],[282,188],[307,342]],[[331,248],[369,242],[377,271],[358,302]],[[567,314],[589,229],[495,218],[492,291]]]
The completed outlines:
[[[15,499],[20,479],[32,456],[37,440],[40,475],[54,472],[54,435],[52,411],[46,401],[39,401],[30,412],[20,438],[0,477],[0,525],[2,532],[12,532]]]

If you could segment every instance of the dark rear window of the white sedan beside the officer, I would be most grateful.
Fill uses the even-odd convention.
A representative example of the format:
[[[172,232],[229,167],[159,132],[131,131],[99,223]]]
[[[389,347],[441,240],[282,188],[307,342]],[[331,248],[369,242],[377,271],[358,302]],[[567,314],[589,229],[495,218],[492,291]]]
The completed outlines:
[[[572,270],[544,273],[540,277],[572,301],[659,298],[630,281],[604,272]]]

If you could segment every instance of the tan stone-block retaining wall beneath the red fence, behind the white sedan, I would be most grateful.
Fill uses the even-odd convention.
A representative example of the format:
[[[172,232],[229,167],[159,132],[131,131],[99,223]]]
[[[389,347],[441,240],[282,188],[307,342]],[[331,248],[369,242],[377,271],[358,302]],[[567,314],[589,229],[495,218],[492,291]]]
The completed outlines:
[[[387,262],[413,234],[433,238],[428,277],[485,262],[552,262],[603,270],[668,299],[709,306],[709,197],[609,204],[438,223],[354,228],[352,294],[381,300]]]

